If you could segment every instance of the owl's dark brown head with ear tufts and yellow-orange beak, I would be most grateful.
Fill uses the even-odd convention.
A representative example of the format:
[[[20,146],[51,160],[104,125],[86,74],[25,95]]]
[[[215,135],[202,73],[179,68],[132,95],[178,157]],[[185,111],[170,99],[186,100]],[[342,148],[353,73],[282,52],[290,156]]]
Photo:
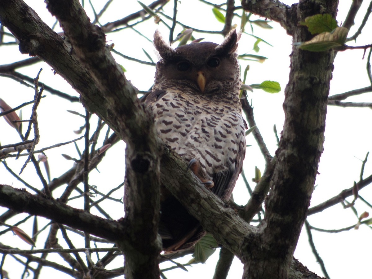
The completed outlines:
[[[238,35],[234,29],[220,45],[200,42],[173,49],[156,31],[154,45],[161,59],[156,67],[155,87],[189,87],[199,94],[221,92],[221,89],[228,92],[238,90],[237,41]]]

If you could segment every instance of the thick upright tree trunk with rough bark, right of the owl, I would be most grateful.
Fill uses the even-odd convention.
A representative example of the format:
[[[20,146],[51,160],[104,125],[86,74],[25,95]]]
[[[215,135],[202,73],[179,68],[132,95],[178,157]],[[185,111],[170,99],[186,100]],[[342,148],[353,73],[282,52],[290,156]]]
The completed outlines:
[[[294,42],[311,35],[298,23],[318,13],[336,16],[337,1],[242,1],[243,8],[278,21]],[[269,7],[269,9],[267,9]],[[333,51],[312,53],[293,47],[285,89],[285,122],[260,231],[243,247],[243,278],[287,278],[288,267],[306,218],[323,151]]]

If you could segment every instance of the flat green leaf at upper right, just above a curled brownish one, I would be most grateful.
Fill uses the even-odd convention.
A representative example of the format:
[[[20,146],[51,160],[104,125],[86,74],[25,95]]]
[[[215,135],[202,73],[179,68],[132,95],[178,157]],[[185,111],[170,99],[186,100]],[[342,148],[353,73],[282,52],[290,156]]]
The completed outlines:
[[[338,26],[336,19],[328,13],[308,16],[305,18],[305,21],[300,22],[300,25],[307,26],[311,34],[331,32]]]

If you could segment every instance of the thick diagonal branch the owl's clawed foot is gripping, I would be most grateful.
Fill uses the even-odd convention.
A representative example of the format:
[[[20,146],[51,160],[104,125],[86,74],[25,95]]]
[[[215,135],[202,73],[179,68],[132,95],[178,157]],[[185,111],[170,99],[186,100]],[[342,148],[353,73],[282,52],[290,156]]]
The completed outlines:
[[[216,195],[211,195],[211,190],[200,184],[191,171],[186,173],[185,161],[170,150],[165,151],[161,158],[161,182],[201,222],[206,231],[211,232],[222,246],[241,257],[241,245],[257,228],[238,217]]]

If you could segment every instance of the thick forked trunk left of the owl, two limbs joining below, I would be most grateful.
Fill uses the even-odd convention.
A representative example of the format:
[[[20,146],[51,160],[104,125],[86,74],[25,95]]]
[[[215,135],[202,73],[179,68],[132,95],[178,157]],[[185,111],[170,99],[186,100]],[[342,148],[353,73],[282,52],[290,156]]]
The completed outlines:
[[[127,142],[128,195],[133,202],[126,220],[133,247],[124,251],[138,255],[126,257],[133,261],[127,262],[126,275],[128,279],[157,278],[161,145],[151,113],[138,101],[135,89],[106,46],[105,34],[90,23],[80,3],[51,0],[47,7],[60,21],[71,45],[21,0],[2,1],[0,21],[19,40],[22,53],[38,55],[51,65],[80,93],[90,112],[97,113]],[[146,237],[139,238],[138,233]],[[118,246],[128,247],[128,239],[118,241]]]

